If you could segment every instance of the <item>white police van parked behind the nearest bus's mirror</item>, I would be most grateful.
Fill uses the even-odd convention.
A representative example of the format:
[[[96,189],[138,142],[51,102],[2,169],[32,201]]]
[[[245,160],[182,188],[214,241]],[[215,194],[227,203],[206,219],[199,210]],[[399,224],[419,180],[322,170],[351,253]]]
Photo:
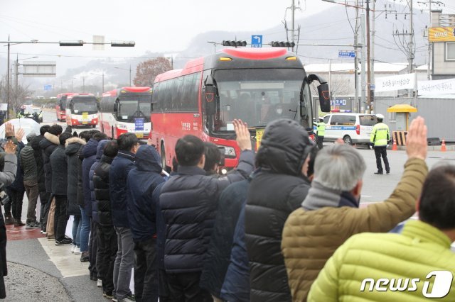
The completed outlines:
[[[330,113],[323,120],[326,123],[324,142],[335,142],[341,138],[349,145],[368,145],[373,125],[378,123],[374,114],[364,113]]]

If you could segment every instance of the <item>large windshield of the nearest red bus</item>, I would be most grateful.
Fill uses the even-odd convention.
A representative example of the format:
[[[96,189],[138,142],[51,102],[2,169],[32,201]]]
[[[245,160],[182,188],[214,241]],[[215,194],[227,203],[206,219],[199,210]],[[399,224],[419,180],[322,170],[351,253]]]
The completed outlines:
[[[304,119],[301,123],[309,128],[311,111],[300,116],[304,69],[221,69],[213,77],[220,96],[215,132],[234,130],[234,118],[247,122],[249,127],[265,127],[278,118],[298,122]],[[310,104],[305,106],[310,108]]]

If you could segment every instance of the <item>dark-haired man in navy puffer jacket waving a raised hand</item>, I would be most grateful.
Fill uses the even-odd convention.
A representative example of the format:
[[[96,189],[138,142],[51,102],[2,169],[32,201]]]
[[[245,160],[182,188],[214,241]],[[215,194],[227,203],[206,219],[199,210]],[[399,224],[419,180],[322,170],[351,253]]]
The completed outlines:
[[[242,151],[235,173],[214,178],[205,175],[204,144],[186,135],[176,144],[178,174],[161,188],[159,204],[166,224],[164,267],[168,279],[169,301],[189,297],[193,301],[213,301],[200,289],[203,260],[213,228],[221,191],[235,181],[246,179],[254,169],[250,132],[242,121],[234,121],[237,143]]]

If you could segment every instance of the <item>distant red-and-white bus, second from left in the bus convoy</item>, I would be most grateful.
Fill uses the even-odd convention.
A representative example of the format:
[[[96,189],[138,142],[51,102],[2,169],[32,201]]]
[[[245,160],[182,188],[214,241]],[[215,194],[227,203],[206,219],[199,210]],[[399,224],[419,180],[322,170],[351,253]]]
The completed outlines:
[[[66,124],[97,126],[98,102],[93,94],[72,94],[66,98]]]

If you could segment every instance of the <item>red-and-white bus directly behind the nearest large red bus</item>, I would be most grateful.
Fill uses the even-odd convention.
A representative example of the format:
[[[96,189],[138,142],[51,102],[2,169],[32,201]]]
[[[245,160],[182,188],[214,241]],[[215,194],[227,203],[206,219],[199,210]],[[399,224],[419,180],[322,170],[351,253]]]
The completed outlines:
[[[123,87],[102,94],[100,128],[110,138],[135,133],[148,139],[150,133],[150,87]]]

